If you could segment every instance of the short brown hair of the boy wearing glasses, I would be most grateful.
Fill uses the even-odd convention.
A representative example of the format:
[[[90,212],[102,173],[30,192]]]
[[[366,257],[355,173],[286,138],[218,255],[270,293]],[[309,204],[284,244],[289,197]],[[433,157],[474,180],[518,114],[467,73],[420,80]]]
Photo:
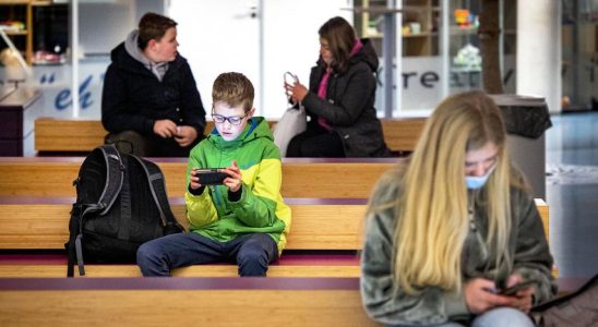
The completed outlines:
[[[230,107],[243,106],[244,112],[253,108],[253,84],[241,73],[222,73],[214,81],[212,101],[225,102]]]

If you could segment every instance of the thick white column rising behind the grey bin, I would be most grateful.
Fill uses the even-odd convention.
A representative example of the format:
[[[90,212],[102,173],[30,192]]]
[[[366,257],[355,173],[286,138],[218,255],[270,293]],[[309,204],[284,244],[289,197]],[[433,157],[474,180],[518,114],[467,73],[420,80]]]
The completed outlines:
[[[517,1],[517,94],[561,111],[561,1]]]

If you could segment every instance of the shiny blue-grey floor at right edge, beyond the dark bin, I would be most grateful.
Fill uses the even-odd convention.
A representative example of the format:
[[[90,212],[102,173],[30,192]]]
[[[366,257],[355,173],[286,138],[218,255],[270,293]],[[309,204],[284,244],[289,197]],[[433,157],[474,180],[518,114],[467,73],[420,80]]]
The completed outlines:
[[[547,140],[550,245],[560,277],[598,274],[598,112],[552,116]]]

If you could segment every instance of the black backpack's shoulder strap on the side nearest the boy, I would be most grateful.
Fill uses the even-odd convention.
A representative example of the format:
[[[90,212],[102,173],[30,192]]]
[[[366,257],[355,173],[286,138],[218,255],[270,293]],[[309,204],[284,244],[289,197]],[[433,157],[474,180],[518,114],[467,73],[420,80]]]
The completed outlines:
[[[164,233],[171,234],[181,232],[183,228],[179,225],[179,222],[175,218],[175,215],[172,214],[172,210],[170,209],[168,196],[166,195],[166,181],[159,167],[156,166],[154,162],[146,161],[137,156],[130,156],[132,158],[135,158],[135,160],[139,161],[141,167],[143,167],[143,170],[145,171],[147,181],[150,182],[152,197],[154,197],[154,202],[156,203],[156,207],[158,208],[160,215],[162,223],[165,227]]]

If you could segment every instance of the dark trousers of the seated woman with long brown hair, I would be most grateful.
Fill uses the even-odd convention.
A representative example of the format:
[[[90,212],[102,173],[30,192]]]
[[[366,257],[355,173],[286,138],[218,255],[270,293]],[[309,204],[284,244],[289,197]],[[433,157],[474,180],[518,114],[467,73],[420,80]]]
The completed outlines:
[[[308,125],[306,132],[290,140],[287,157],[344,158],[346,156],[338,133]]]

